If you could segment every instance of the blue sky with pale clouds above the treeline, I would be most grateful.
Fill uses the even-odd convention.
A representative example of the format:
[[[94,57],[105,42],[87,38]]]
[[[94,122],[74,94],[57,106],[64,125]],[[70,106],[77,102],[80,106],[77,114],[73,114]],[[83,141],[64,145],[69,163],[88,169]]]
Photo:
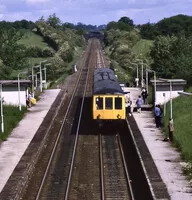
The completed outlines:
[[[144,24],[177,14],[192,16],[192,0],[0,0],[0,21],[35,22],[53,13],[63,23],[102,25],[127,16]]]

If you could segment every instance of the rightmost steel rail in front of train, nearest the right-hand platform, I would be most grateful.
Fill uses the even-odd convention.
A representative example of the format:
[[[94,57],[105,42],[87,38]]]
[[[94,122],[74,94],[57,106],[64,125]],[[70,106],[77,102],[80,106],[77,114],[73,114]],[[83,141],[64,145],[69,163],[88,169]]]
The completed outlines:
[[[124,166],[124,169],[125,169],[125,174],[126,174],[126,178],[127,178],[127,184],[128,184],[128,188],[129,188],[129,192],[130,192],[130,198],[131,198],[131,200],[134,200],[135,197],[134,197],[133,190],[132,190],[131,179],[130,179],[128,168],[127,168],[127,164],[126,164],[126,161],[125,161],[125,156],[124,156],[124,153],[123,153],[123,148],[122,148],[121,140],[120,140],[120,137],[119,137],[119,133],[117,133],[116,137],[117,137],[117,141],[118,141],[118,144],[119,144],[119,149],[120,149],[120,152],[121,152],[123,166]]]

